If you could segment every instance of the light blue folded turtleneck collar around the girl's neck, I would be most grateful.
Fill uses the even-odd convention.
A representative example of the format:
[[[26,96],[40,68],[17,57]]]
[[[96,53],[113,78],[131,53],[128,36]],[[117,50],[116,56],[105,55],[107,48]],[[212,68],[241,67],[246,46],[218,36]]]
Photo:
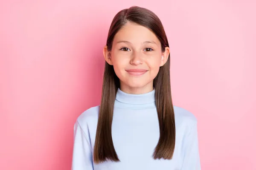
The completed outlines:
[[[116,93],[115,106],[128,108],[155,107],[155,89],[145,94],[127,94],[119,88]]]

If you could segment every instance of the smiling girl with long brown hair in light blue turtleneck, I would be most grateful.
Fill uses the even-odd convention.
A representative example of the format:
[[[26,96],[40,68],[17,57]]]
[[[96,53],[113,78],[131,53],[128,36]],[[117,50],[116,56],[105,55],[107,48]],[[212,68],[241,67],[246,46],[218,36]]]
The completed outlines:
[[[159,18],[119,11],[104,47],[99,106],[74,126],[73,170],[200,170],[197,119],[173,106],[169,44]]]

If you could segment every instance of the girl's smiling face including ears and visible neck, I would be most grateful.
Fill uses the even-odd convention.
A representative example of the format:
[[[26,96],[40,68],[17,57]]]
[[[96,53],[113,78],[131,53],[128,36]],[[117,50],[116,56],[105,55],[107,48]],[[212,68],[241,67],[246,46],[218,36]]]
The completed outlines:
[[[126,23],[115,35],[111,51],[104,48],[108,64],[113,65],[126,93],[143,94],[153,90],[153,80],[169,56],[161,50],[156,35],[144,26]]]

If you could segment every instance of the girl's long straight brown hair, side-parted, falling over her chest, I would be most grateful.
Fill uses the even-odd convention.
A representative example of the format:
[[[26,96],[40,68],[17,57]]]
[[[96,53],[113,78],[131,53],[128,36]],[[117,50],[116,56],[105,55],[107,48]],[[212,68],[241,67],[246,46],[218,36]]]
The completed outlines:
[[[119,11],[113,18],[108,32],[108,51],[111,51],[114,36],[128,21],[153,31],[161,42],[162,51],[165,51],[165,47],[169,47],[166,33],[157,15],[146,8],[132,6]],[[160,67],[157,77],[153,81],[153,86],[155,88],[160,138],[152,156],[154,159],[172,159],[175,148],[175,117],[170,85],[170,55],[166,64]],[[105,62],[102,99],[93,153],[93,161],[96,164],[107,160],[120,161],[111,135],[114,102],[119,87],[119,78],[116,76],[113,66]]]

